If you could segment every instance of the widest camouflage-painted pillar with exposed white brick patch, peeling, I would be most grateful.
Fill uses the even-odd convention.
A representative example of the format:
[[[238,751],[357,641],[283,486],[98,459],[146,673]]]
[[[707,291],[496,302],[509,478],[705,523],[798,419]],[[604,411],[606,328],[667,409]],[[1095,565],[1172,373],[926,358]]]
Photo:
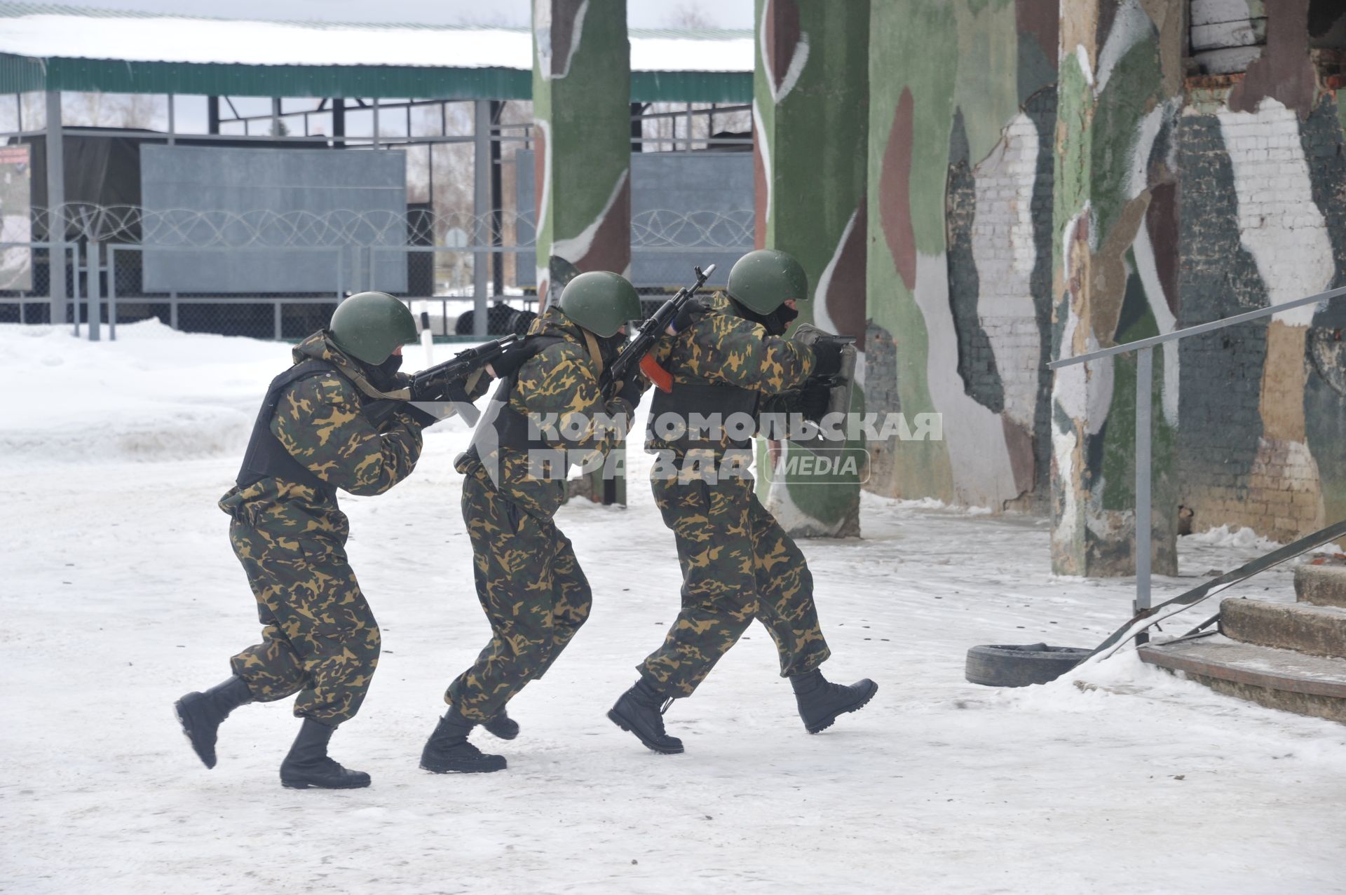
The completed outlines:
[[[870,440],[886,497],[1046,510],[1057,0],[870,22]]]

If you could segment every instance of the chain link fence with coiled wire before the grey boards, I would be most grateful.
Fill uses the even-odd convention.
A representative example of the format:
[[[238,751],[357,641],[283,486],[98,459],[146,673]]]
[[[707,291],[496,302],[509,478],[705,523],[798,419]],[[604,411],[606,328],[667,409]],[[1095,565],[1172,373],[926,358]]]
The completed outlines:
[[[152,211],[71,203],[34,209],[35,234],[63,244],[0,244],[0,322],[65,323],[90,338],[157,319],[187,332],[299,339],[347,295],[380,289],[424,314],[436,336],[506,331],[537,310],[528,214],[386,211]],[[506,234],[511,244],[505,244]],[[631,222],[634,257],[736,257],[752,248],[752,213],[650,211]],[[52,269],[51,257],[65,258]],[[704,262],[697,257],[696,262]],[[681,261],[637,283],[647,310],[690,280]],[[52,295],[55,291],[55,296]],[[54,300],[55,299],[55,300]]]

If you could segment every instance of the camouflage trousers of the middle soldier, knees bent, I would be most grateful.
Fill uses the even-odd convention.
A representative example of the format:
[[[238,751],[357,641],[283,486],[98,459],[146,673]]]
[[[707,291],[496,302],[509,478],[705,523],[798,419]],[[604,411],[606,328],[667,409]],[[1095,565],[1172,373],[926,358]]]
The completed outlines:
[[[569,538],[501,497],[479,464],[463,478],[463,521],[491,641],[444,701],[489,721],[551,668],[588,618],[592,592]]]

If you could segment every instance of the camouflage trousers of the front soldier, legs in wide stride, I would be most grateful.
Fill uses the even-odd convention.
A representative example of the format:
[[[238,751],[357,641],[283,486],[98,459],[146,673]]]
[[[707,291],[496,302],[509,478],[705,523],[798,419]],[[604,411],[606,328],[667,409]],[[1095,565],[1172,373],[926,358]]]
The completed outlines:
[[[782,677],[822,665],[830,651],[813,606],[813,576],[752,483],[653,485],[677,540],[682,610],[664,646],[637,666],[641,676],[668,696],[690,696],[752,619],[775,641]]]

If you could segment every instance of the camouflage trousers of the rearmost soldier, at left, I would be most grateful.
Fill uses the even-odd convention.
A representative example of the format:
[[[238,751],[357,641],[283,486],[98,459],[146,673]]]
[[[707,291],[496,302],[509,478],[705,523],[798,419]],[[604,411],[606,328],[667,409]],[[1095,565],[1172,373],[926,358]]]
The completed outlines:
[[[336,725],[355,716],[378,665],[378,624],[341,544],[234,520],[229,540],[257,598],[262,641],[230,659],[253,699],[299,693],[297,717]]]

